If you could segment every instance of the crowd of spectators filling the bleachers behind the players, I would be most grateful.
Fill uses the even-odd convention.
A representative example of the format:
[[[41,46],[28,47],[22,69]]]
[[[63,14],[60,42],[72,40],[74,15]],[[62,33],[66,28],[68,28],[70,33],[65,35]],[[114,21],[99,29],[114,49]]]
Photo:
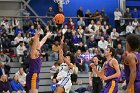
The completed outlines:
[[[63,13],[62,8],[59,8],[58,13]],[[49,7],[47,17],[54,16],[53,8]],[[73,21],[72,18],[66,19],[62,27],[57,25],[53,18],[48,19],[47,26],[44,27],[39,18],[35,20],[31,20],[30,17],[24,18],[21,25],[18,18],[12,18],[12,21],[9,21],[8,18],[4,17],[0,23],[0,92],[25,92],[25,72],[28,70],[27,58],[30,52],[30,41],[35,32],[40,32],[41,38],[48,31],[54,33],[54,36],[48,38],[41,49],[45,61],[48,61],[50,56],[56,62],[59,60],[58,47],[64,35],[63,50],[65,52],[70,51],[74,57],[73,64],[75,65],[75,70],[72,75],[73,83],[77,82],[78,72],[88,73],[90,71],[90,63],[94,56],[98,56],[100,66],[103,65],[106,60],[104,53],[109,46],[116,49],[115,58],[118,60],[123,71],[125,50],[120,38],[122,36],[121,33],[124,31],[126,36],[131,33],[140,36],[140,24],[137,19],[127,19],[125,22],[121,22],[121,18],[140,18],[137,9],[135,8],[130,13],[129,8],[127,8],[124,15],[119,9],[116,9],[114,11],[115,27],[109,24],[109,17],[106,15],[104,9],[101,11],[96,10],[93,14],[90,10],[87,10],[84,14],[82,7],[80,7],[77,10],[77,17],[77,21]],[[51,51],[51,53],[48,53],[48,51]],[[24,69],[21,67],[8,83],[10,71],[8,63],[13,62],[15,59],[23,64]],[[52,67],[55,70],[51,73],[57,73],[58,66],[59,64],[55,63]],[[121,81],[123,81],[123,77],[124,75],[122,75]],[[54,78],[52,81],[56,83]]]

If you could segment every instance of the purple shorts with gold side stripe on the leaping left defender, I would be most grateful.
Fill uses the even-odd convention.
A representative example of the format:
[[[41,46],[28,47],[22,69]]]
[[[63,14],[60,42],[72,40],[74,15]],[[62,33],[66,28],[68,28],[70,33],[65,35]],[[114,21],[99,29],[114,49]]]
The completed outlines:
[[[26,76],[26,85],[27,91],[31,89],[38,89],[39,88],[39,77],[37,73],[30,74],[28,73]]]

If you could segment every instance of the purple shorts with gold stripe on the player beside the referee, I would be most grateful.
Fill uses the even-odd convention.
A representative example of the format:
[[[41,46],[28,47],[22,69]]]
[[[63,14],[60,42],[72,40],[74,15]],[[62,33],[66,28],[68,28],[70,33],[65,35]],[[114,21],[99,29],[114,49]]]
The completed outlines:
[[[106,83],[104,88],[101,90],[100,93],[117,93],[118,92],[118,82],[115,80],[109,81]]]

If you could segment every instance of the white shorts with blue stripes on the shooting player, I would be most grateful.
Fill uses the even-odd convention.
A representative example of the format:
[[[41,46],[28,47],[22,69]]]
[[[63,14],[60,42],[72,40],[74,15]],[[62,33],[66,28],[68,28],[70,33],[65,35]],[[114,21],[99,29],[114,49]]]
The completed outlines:
[[[71,79],[65,77],[65,78],[61,79],[61,80],[57,83],[57,85],[58,85],[58,86],[61,86],[62,88],[64,88],[65,93],[69,93],[69,91],[71,90],[71,86],[72,86]]]

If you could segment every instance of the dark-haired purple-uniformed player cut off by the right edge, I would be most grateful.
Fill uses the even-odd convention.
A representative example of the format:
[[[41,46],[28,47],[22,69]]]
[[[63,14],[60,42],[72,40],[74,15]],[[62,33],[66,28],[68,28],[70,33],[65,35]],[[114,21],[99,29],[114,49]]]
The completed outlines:
[[[140,54],[136,52],[139,47],[139,37],[130,34],[126,39],[126,51],[128,53],[124,64],[127,86],[125,93],[140,93]]]

